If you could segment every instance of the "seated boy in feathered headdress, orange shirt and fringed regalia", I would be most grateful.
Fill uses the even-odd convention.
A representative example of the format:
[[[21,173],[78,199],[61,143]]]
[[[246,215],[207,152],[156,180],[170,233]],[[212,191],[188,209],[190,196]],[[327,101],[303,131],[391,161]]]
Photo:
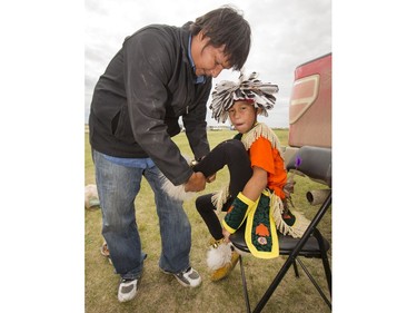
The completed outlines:
[[[222,81],[212,92],[212,117],[221,123],[227,118],[239,131],[212,149],[195,172],[212,177],[225,165],[229,167],[230,184],[217,194],[197,198],[196,207],[207,224],[214,239],[208,253],[211,280],[226,277],[235,267],[238,254],[229,243],[229,235],[246,221],[246,232],[251,241],[249,250],[255,256],[278,256],[277,228],[284,234],[299,236],[295,216],[286,206],[287,172],[275,133],[257,121],[257,115],[268,116],[278,91],[277,85],[265,84],[252,72],[248,79],[241,75],[237,84]],[[227,212],[222,223],[217,212]],[[302,226],[304,227],[304,226]]]

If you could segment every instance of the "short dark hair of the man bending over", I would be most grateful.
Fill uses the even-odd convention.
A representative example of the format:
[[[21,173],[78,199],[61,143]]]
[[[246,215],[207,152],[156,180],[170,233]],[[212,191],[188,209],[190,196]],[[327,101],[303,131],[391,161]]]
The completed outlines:
[[[219,48],[225,45],[225,56],[234,70],[240,70],[250,50],[250,26],[242,13],[225,6],[196,19],[190,26],[191,35],[202,31],[208,45]]]

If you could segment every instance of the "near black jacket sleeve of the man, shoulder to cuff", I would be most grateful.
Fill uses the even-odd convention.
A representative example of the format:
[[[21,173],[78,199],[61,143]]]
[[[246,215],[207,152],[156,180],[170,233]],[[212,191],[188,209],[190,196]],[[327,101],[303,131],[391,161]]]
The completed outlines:
[[[167,178],[179,185],[188,180],[192,170],[168,135],[165,123],[172,50],[155,31],[143,31],[125,41],[123,62],[135,139]]]

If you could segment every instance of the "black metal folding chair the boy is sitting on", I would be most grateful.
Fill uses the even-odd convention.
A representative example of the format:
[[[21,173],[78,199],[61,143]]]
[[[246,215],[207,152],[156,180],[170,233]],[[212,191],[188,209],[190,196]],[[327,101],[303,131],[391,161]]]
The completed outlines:
[[[297,156],[301,158],[301,164],[298,167],[296,167],[295,162]],[[308,176],[310,179],[328,186],[330,189],[301,238],[294,238],[291,236],[278,234],[279,254],[288,255],[288,257],[252,312],[261,312],[291,265],[295,268],[296,276],[299,277],[297,263],[301,266],[324,301],[331,309],[331,302],[327,299],[324,291],[320,288],[299,257],[304,256],[321,258],[331,297],[331,271],[327,257],[327,251],[329,250],[330,244],[321,236],[319,229],[317,228],[317,225],[331,205],[331,149],[304,146],[287,163],[287,170],[289,172],[291,169],[295,170],[296,174]],[[250,253],[245,242],[245,225],[242,225],[235,234],[230,235],[230,241],[238,251]],[[251,312],[241,255],[239,257],[239,264],[246,307],[248,312]]]

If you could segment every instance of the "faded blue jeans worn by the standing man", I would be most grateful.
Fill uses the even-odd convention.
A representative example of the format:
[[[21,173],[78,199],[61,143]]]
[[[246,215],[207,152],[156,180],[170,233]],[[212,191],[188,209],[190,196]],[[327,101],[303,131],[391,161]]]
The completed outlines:
[[[142,252],[135,212],[135,198],[140,190],[142,176],[153,190],[159,217],[162,243],[159,267],[171,273],[188,268],[191,226],[182,202],[170,198],[162,190],[161,186],[167,179],[162,173],[155,165],[126,167],[106,159],[103,154],[96,150],[92,155],[102,213],[102,235],[116,273],[131,280],[140,276],[143,268],[146,254]],[[156,221],[149,229],[153,231],[157,225]]]

